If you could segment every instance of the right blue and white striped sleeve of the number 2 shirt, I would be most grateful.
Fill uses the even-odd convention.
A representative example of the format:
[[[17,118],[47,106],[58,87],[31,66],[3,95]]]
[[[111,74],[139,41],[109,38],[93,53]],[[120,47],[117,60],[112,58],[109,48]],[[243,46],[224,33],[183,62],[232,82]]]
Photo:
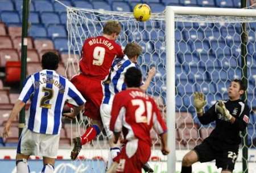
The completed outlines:
[[[67,102],[73,106],[82,106],[86,101],[77,88],[68,81]]]

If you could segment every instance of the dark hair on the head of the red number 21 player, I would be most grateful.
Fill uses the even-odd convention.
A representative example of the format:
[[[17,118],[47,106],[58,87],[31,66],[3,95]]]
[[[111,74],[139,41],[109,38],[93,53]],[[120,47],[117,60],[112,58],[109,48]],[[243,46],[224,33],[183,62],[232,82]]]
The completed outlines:
[[[130,67],[125,73],[125,83],[127,87],[140,87],[142,74],[136,67]]]

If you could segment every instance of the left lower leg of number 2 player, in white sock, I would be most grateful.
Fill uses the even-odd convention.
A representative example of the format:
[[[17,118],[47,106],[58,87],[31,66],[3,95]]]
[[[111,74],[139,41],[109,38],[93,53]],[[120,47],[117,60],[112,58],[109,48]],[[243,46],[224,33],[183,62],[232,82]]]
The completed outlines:
[[[16,155],[16,167],[17,173],[29,173],[30,168],[27,164],[27,159],[30,157],[29,155],[18,154]]]

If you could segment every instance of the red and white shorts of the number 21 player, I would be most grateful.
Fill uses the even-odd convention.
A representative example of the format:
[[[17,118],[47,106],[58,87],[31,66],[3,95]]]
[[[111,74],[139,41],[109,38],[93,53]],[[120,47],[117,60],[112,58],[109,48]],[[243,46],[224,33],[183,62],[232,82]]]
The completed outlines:
[[[129,144],[130,146],[128,143],[122,147],[121,152],[113,159],[114,162],[118,163],[116,173],[141,173],[143,165],[150,158],[151,147],[143,141],[132,142],[134,144]],[[133,151],[135,151],[134,154]]]

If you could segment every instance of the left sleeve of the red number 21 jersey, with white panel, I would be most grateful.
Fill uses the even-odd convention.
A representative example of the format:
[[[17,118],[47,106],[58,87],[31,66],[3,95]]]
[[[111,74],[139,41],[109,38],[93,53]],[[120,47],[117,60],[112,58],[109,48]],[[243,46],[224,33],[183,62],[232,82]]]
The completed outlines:
[[[121,132],[122,131],[122,119],[125,116],[126,109],[121,104],[122,100],[120,99],[119,95],[114,96],[113,100],[113,107],[111,111],[111,119],[110,119],[110,130],[112,132]]]

